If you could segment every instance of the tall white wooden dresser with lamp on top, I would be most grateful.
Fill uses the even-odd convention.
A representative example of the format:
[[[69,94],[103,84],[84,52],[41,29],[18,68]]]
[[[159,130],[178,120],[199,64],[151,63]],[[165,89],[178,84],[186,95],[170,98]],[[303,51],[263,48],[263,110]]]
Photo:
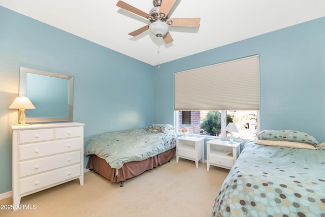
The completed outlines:
[[[83,185],[83,123],[12,126],[14,210],[23,196],[79,178]]]

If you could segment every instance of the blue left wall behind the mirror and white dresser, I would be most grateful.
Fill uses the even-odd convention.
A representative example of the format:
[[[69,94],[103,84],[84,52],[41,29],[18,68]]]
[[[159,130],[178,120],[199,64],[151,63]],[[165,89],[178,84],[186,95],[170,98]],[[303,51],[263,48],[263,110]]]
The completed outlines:
[[[94,134],[153,123],[152,66],[0,7],[0,194],[12,189],[19,67],[74,77],[74,121]],[[85,164],[88,158],[85,158]]]

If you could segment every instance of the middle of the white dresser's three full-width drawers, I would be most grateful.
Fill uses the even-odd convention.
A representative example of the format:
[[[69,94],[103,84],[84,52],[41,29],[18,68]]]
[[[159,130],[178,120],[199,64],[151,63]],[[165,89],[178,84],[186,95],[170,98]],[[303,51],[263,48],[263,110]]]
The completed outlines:
[[[20,176],[33,175],[48,170],[80,163],[80,151],[45,157],[19,163]]]

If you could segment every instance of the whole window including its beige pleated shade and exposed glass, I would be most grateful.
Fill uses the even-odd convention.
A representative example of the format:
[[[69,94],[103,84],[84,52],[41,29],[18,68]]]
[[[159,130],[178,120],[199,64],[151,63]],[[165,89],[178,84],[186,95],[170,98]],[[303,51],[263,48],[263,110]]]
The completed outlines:
[[[259,119],[259,55],[175,73],[176,128],[226,139],[235,122],[237,140],[256,137]],[[190,125],[180,122],[190,112]]]

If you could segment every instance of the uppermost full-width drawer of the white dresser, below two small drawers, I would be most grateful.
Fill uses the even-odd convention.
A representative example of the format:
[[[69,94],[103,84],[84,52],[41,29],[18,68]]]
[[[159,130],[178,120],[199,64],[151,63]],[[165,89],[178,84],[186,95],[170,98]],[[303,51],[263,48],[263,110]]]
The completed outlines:
[[[24,144],[18,146],[19,160],[27,160],[68,152],[73,150],[80,150],[81,138],[53,140],[49,142],[39,142],[35,144]]]

